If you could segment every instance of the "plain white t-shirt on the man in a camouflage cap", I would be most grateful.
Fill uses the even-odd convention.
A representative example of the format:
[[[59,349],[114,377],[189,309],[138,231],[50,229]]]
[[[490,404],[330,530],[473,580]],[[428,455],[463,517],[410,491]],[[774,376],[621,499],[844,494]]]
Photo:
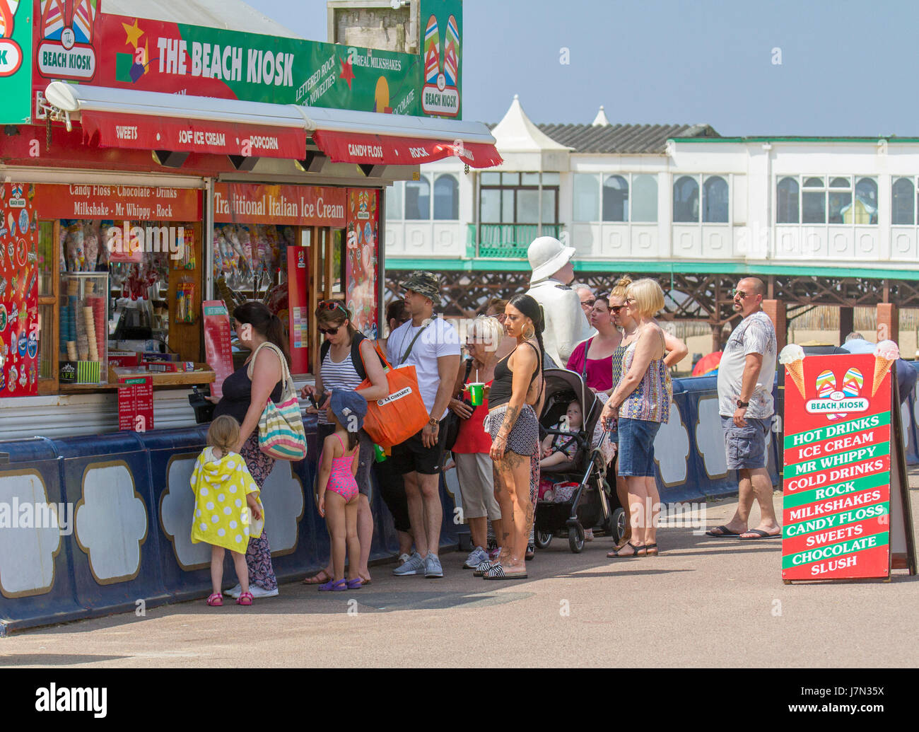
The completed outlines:
[[[425,328],[424,333],[414,342],[408,358],[404,363],[400,363],[403,353],[408,350],[413,338],[422,328]],[[413,326],[411,320],[406,321],[391,332],[386,341],[386,353],[390,363],[395,367],[414,366],[418,377],[418,389],[421,392],[421,398],[425,401],[425,409],[430,414],[437,398],[437,389],[440,386],[437,359],[442,356],[459,356],[459,335],[456,328],[442,317],[438,317],[433,323],[421,326]],[[437,418],[443,419],[446,414],[445,409],[444,414]]]

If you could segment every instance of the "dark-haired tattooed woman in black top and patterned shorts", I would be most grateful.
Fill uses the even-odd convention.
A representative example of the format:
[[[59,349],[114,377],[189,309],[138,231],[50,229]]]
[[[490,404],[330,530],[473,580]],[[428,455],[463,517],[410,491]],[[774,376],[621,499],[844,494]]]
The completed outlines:
[[[497,560],[476,567],[485,579],[527,577],[525,556],[539,489],[542,312],[536,300],[521,294],[507,303],[505,315],[505,333],[516,339],[516,348],[495,364],[484,425],[492,437],[494,495],[503,536]]]

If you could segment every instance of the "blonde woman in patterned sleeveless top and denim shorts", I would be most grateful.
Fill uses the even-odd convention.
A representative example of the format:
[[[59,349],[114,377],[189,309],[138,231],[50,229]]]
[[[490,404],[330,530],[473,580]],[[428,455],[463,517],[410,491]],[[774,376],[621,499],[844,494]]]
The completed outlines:
[[[632,538],[610,552],[610,557],[658,553],[661,497],[654,477],[654,438],[670,418],[673,397],[670,372],[664,364],[664,330],[653,317],[664,308],[664,292],[654,280],[638,280],[626,291],[625,305],[638,326],[622,359],[623,376],[600,418],[607,429],[618,423],[618,473],[629,489]]]

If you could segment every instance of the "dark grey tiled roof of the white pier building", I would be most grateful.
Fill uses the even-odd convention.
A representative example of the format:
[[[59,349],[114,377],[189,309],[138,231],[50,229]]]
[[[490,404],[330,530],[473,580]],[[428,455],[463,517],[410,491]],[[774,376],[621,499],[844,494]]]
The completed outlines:
[[[576,153],[664,154],[671,137],[720,137],[707,124],[538,124]]]

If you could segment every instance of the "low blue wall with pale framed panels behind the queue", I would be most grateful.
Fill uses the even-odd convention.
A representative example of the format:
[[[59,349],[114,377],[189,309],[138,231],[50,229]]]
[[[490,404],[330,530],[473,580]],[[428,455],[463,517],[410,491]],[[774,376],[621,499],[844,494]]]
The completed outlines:
[[[725,467],[716,379],[675,380],[674,404],[655,442],[662,499],[699,501],[735,493],[736,475]],[[910,464],[919,463],[917,421],[913,392],[902,406]],[[278,461],[262,491],[281,581],[316,571],[328,558],[328,535],[312,500],[314,417],[304,424],[310,457]],[[154,606],[207,594],[210,546],[190,542],[188,483],[205,434],[198,427],[0,442],[0,452],[9,453],[9,464],[0,468],[0,635],[134,610],[139,600]],[[768,442],[775,485],[781,475],[777,438],[770,433]],[[441,497],[441,546],[455,546],[460,526],[444,481]],[[371,559],[396,555],[396,532],[379,490],[373,491],[371,509]],[[229,557],[224,575],[234,576]]]

